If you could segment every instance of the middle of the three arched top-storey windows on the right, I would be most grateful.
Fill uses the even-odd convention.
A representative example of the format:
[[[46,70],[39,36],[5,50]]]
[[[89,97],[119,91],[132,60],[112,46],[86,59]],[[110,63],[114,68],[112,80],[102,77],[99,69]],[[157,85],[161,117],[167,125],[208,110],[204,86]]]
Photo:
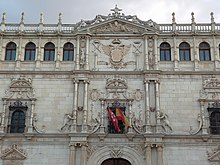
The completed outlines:
[[[186,42],[182,42],[179,45],[179,56],[180,61],[190,61],[191,55],[190,55],[190,45]]]

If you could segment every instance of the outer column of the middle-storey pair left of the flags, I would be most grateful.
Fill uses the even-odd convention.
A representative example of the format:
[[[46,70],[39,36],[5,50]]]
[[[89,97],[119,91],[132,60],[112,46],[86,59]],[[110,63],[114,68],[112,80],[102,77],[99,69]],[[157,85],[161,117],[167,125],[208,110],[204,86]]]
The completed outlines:
[[[78,80],[73,80],[74,84],[74,99],[73,99],[73,132],[76,132],[76,122],[77,122],[77,107],[78,107]]]

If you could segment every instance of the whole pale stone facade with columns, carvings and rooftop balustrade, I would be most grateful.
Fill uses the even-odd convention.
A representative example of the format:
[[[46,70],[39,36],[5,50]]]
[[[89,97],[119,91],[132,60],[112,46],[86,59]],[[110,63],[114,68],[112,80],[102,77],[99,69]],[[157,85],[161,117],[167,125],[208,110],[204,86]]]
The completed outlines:
[[[220,24],[142,21],[117,6],[108,16],[63,24],[0,26],[0,143],[3,165],[218,165],[219,132],[210,118],[219,111]],[[8,43],[16,57],[7,60]],[[26,60],[34,43],[35,59]],[[190,59],[180,44],[190,45]],[[209,60],[201,60],[207,43]],[[45,44],[55,57],[45,61]],[[64,60],[64,44],[74,60]],[[161,60],[161,44],[170,60]],[[207,49],[206,49],[207,50]],[[107,107],[125,108],[131,127],[110,133]],[[12,131],[13,114],[24,113],[24,128]],[[217,116],[216,116],[217,117]],[[218,122],[216,122],[218,124]],[[220,123],[219,123],[220,124]],[[218,130],[217,125],[217,130]],[[214,128],[215,130],[215,128]],[[17,130],[18,131],[18,130]],[[10,133],[11,132],[11,133]]]

